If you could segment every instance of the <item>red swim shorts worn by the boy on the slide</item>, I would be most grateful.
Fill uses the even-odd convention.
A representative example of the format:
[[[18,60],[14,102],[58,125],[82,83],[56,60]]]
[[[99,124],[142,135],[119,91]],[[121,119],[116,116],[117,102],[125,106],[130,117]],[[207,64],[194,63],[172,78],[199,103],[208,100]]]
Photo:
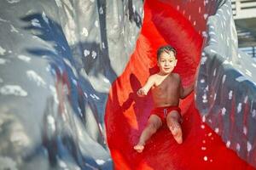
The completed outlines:
[[[171,111],[177,111],[179,114],[181,110],[178,106],[166,106],[166,107],[156,107],[150,112],[151,115],[159,116],[162,122],[166,122],[166,116]]]

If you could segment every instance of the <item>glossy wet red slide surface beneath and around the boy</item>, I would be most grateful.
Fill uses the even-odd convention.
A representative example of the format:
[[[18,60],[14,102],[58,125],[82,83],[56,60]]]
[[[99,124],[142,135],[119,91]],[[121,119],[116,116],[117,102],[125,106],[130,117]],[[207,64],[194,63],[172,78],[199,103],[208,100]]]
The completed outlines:
[[[133,150],[153,107],[150,94],[139,98],[136,92],[157,71],[157,48],[166,43],[177,48],[175,72],[186,87],[194,81],[203,43],[190,22],[171,6],[148,0],[144,10],[136,49],[108,96],[105,123],[115,169],[253,169],[201,120],[194,94],[180,103],[183,144],[177,144],[163,126],[148,140],[143,153]]]

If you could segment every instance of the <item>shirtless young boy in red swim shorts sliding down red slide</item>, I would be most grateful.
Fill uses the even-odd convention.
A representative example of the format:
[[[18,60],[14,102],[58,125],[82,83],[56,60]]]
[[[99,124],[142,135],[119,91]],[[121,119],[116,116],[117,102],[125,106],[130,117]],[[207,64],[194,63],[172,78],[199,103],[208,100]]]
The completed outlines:
[[[177,144],[183,143],[183,133],[180,125],[181,115],[178,107],[179,99],[188,96],[194,85],[183,88],[181,79],[173,69],[177,64],[176,50],[169,45],[163,46],[157,51],[157,64],[160,71],[150,77],[148,81],[137,91],[137,95],[143,97],[151,89],[154,101],[154,109],[148,118],[148,124],[134,150],[143,152],[146,141],[166,123]]]

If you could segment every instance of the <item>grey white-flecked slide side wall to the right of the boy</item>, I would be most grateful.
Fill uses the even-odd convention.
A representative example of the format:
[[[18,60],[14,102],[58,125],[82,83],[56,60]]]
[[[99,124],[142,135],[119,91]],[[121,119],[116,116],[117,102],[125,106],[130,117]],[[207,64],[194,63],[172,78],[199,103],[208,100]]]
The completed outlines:
[[[256,167],[256,63],[237,48],[230,1],[207,20],[196,105],[226,146]]]

